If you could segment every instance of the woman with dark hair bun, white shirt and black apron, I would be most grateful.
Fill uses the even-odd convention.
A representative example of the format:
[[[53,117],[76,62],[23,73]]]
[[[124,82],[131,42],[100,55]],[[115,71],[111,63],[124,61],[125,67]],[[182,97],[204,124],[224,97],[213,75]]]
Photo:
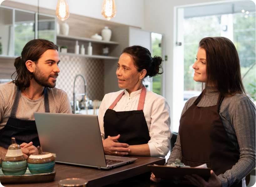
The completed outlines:
[[[141,46],[122,51],[116,75],[123,90],[106,94],[98,115],[106,155],[164,157],[170,151],[169,104],[143,85],[147,76],[163,73],[161,63]]]

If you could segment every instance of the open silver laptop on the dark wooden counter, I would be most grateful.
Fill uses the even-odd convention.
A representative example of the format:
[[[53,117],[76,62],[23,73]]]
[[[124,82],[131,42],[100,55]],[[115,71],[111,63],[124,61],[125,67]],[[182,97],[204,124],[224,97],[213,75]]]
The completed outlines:
[[[104,154],[97,115],[34,112],[42,150],[59,163],[110,169],[136,158]]]

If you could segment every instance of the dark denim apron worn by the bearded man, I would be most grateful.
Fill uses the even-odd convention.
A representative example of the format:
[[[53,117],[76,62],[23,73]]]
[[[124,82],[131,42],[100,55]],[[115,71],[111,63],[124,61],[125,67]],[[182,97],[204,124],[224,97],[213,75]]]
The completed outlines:
[[[18,89],[17,87],[10,117],[0,132],[0,146],[6,149],[12,144],[12,137],[16,139],[17,144],[22,144],[23,142],[29,143],[32,141],[33,146],[40,146],[35,120],[23,120],[15,117],[20,93],[21,89]],[[46,88],[44,88],[44,109],[45,112],[50,112]]]

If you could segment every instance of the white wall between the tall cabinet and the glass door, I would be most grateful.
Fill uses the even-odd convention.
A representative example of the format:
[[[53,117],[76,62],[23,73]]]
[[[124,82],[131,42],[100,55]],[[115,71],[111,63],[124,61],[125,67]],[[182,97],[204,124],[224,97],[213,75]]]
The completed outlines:
[[[145,0],[144,1],[144,26],[143,29],[150,30],[156,33],[165,34],[166,50],[165,55],[168,56],[168,61],[165,62],[165,98],[167,99],[171,107],[171,121],[173,110],[176,106],[173,106],[173,81],[175,77],[172,72],[176,71],[174,69],[173,62],[173,48],[175,46],[176,40],[174,40],[174,7],[196,4],[196,3],[206,3],[214,2],[214,0],[182,0],[182,1],[172,1],[172,0]],[[216,2],[216,0],[215,0]],[[178,73],[178,72],[176,72]],[[171,123],[172,130],[172,123]]]

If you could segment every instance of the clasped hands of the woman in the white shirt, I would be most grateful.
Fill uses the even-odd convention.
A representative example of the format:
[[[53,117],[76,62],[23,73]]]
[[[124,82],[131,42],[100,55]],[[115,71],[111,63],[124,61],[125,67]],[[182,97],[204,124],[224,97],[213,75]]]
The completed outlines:
[[[120,134],[115,137],[108,136],[108,138],[102,141],[104,152],[106,155],[112,155],[112,156],[128,155],[128,153],[131,151],[131,149],[128,148],[129,145],[126,143],[119,143],[117,141],[119,138],[120,138]]]

